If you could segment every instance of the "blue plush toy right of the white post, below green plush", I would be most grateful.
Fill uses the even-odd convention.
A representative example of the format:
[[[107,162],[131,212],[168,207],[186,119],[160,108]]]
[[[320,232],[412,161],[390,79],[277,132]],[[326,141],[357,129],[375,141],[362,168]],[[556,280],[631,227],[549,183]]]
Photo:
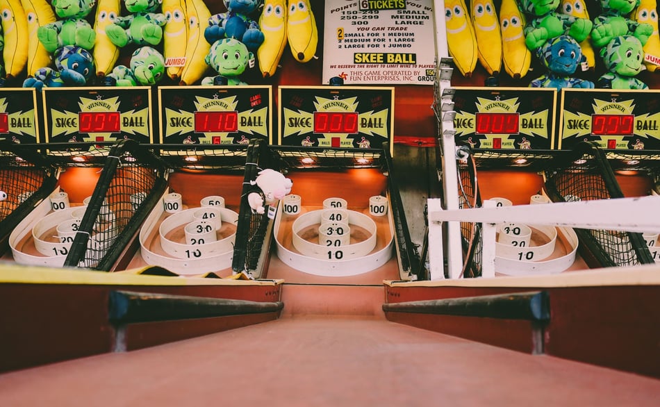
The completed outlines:
[[[552,38],[536,50],[547,74],[534,79],[530,88],[594,88],[593,82],[572,78],[582,59],[580,45],[569,35]]]

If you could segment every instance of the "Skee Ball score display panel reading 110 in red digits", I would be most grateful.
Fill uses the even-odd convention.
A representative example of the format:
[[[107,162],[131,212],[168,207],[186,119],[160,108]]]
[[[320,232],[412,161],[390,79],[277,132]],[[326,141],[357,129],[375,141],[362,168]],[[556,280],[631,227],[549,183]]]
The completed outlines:
[[[272,86],[158,88],[162,144],[272,144]]]

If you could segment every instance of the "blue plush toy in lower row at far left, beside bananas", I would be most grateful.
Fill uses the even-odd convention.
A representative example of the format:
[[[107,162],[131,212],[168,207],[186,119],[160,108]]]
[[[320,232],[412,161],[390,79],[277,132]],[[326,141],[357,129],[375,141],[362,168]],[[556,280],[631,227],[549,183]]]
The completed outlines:
[[[56,69],[38,69],[33,78],[23,82],[23,87],[41,90],[44,86],[83,86],[94,73],[94,58],[81,47],[66,45],[56,51],[53,60]]]

